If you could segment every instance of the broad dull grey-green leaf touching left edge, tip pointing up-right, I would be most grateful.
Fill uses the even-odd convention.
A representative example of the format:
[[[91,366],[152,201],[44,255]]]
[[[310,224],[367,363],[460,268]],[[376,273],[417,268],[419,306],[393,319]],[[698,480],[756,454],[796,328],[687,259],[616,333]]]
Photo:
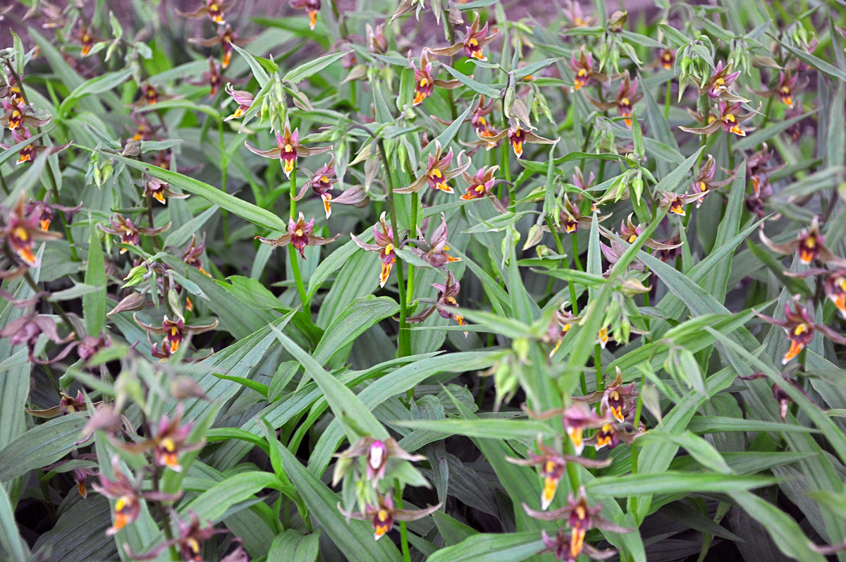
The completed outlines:
[[[85,427],[85,413],[54,417],[33,427],[0,449],[0,482],[25,475],[28,471],[52,463],[75,449],[80,430]]]

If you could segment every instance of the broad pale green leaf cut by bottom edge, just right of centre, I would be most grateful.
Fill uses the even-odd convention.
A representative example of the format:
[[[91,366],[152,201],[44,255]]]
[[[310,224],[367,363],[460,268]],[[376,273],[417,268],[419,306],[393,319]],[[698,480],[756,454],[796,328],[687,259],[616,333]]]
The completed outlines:
[[[428,562],[522,562],[545,548],[538,532],[484,533],[438,550]]]

